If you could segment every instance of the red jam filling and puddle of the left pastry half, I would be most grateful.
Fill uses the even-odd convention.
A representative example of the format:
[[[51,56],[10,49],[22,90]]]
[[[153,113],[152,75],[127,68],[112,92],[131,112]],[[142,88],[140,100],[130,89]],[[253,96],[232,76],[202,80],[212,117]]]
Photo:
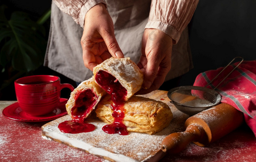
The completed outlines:
[[[95,126],[90,123],[85,123],[84,118],[93,110],[93,106],[96,103],[95,97],[91,89],[77,92],[75,96],[75,106],[71,108],[73,119],[60,123],[58,126],[60,131],[71,134],[93,131]]]

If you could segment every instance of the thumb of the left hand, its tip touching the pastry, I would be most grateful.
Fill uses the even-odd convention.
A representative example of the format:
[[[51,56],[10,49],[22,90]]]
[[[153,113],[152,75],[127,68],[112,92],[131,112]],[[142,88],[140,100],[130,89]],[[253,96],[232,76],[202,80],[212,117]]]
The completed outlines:
[[[116,37],[114,35],[114,30],[105,31],[104,34],[102,34],[102,38],[104,42],[106,43],[106,46],[109,50],[109,53],[115,57],[115,58],[123,58],[124,54],[121,51]]]

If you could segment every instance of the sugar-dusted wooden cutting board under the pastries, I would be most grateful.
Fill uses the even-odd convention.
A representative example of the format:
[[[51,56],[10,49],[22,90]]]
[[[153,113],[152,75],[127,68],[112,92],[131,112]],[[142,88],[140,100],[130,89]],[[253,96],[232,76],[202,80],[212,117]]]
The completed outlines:
[[[68,146],[78,148],[110,161],[159,161],[164,156],[161,150],[162,140],[173,132],[184,131],[184,123],[189,116],[178,111],[169,102],[170,99],[167,97],[167,91],[156,90],[142,96],[166,103],[173,113],[173,119],[169,126],[154,135],[137,132],[130,132],[126,136],[107,134],[102,131],[105,123],[97,119],[94,115],[88,121],[95,125],[96,128],[94,131],[80,134],[66,134],[58,128],[59,123],[65,120],[71,120],[71,117],[66,115],[42,126],[42,136],[45,139],[67,144]]]

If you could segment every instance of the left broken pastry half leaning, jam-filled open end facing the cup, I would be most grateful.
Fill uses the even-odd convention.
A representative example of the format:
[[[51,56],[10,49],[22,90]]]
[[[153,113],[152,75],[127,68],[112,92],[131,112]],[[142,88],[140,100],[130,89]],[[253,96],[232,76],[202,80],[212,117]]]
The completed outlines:
[[[105,90],[95,83],[93,77],[83,81],[71,92],[66,104],[67,112],[72,119],[83,121],[104,95]]]

